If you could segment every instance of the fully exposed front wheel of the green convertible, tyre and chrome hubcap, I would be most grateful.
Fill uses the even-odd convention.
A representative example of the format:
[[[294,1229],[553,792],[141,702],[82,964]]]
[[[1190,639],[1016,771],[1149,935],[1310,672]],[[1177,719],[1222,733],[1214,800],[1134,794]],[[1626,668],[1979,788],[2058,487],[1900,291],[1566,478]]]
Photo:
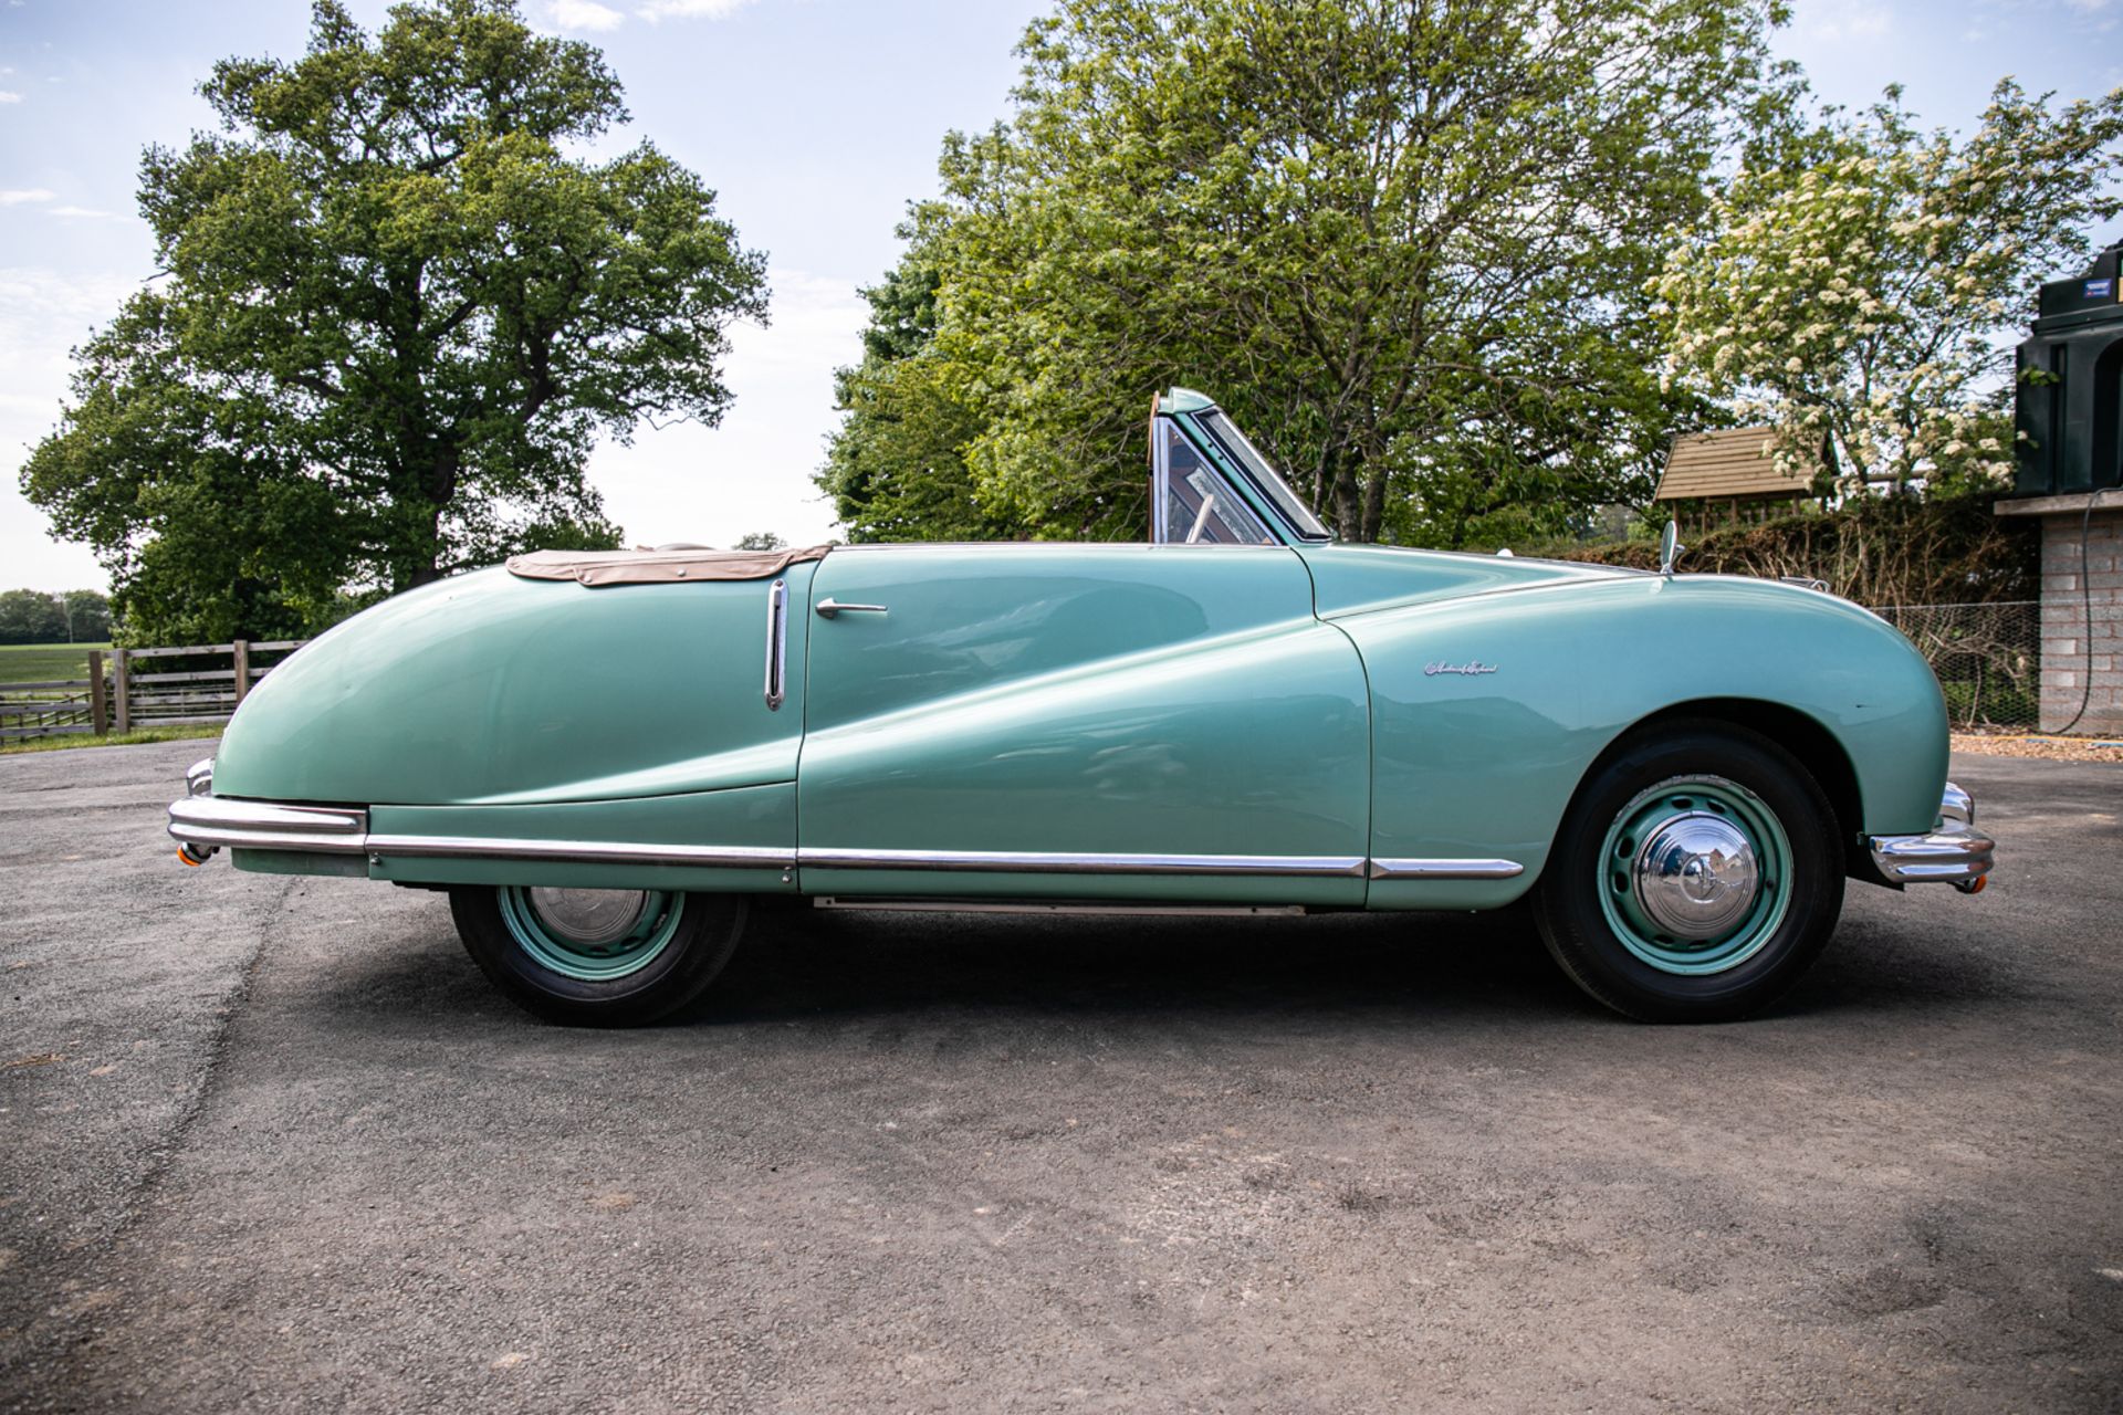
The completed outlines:
[[[1707,721],[1639,732],[1571,802],[1535,891],[1548,950],[1616,1012],[1745,1016],[1819,957],[1843,910],[1836,817],[1768,738]]]

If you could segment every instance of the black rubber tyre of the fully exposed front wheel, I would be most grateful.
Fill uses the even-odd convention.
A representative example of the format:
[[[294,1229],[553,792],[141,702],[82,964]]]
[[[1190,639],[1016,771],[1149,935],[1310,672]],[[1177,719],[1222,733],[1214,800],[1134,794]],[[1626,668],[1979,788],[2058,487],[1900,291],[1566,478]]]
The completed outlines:
[[[1628,895],[1622,880],[1637,878],[1607,859],[1609,846],[1633,849],[1624,813],[1647,796],[1656,800],[1675,781],[1743,787],[1754,798],[1749,810],[1760,806],[1773,815],[1788,844],[1788,859],[1775,870],[1788,878],[1773,880],[1773,870],[1764,866],[1758,893],[1766,897],[1781,889],[1781,916],[1760,914],[1762,923],[1745,944],[1751,953],[1734,955],[1730,965],[1705,963],[1715,972],[1669,972],[1671,957],[1667,967],[1654,965],[1609,919],[1609,908],[1620,912]],[[1618,832],[1616,840],[1609,840],[1609,829]],[[1616,899],[1603,902],[1603,889],[1611,889]],[[1834,933],[1843,912],[1836,815],[1807,768],[1766,736],[1715,721],[1658,723],[1624,738],[1586,776],[1563,817],[1533,912],[1563,972],[1616,1012],[1647,1023],[1741,1018],[1798,982]],[[1645,948],[1641,940],[1635,946]],[[1675,950],[1686,946],[1679,942]]]

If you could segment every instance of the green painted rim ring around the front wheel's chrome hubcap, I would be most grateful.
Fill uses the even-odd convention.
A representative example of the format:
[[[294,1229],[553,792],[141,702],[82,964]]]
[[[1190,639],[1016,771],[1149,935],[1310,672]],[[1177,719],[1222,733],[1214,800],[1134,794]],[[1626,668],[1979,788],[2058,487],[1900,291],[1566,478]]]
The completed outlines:
[[[1637,853],[1662,827],[1690,817],[1732,825],[1754,849],[1758,885],[1754,904],[1709,938],[1677,938],[1654,919],[1637,893]],[[1641,963],[1664,974],[1703,976],[1739,967],[1777,933],[1792,904],[1792,842],[1777,813],[1760,796],[1724,776],[1673,776],[1639,791],[1607,827],[1601,842],[1601,912],[1607,927]]]

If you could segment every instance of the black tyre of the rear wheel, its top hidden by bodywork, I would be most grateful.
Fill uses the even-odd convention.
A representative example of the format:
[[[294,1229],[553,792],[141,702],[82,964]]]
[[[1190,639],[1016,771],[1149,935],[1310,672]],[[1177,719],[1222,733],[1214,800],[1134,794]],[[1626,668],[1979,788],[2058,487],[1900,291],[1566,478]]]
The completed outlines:
[[[495,887],[452,887],[450,916],[471,961],[524,1010],[569,1027],[641,1027],[707,991],[745,931],[743,895],[673,893],[667,899],[677,902],[669,942],[616,978],[571,978],[541,963],[512,931],[503,891]]]

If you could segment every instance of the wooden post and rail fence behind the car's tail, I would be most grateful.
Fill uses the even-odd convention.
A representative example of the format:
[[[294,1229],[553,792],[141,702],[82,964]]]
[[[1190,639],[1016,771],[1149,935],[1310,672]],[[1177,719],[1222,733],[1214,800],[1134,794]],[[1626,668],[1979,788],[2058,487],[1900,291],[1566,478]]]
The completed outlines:
[[[174,649],[91,649],[85,679],[0,683],[0,743],[221,723],[304,643],[308,639],[238,639]]]

